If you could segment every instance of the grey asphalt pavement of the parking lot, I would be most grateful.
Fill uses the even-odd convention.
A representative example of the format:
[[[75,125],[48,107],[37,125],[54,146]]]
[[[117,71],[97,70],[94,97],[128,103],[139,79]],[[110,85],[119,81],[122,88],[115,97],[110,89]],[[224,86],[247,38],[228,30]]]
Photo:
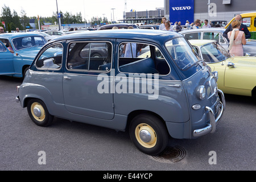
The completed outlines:
[[[22,79],[0,76],[1,171],[255,171],[256,102],[225,94],[226,110],[216,133],[197,139],[170,139],[181,147],[177,162],[140,152],[127,131],[55,118],[36,126],[15,102]],[[102,176],[103,178],[103,176]]]

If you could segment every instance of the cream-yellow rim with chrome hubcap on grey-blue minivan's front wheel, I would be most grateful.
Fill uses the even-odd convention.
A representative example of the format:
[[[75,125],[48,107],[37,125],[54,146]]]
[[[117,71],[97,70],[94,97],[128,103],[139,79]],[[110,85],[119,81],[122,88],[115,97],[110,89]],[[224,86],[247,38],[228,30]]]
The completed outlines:
[[[151,126],[141,123],[135,128],[135,137],[139,144],[146,148],[152,148],[156,144],[156,133]]]

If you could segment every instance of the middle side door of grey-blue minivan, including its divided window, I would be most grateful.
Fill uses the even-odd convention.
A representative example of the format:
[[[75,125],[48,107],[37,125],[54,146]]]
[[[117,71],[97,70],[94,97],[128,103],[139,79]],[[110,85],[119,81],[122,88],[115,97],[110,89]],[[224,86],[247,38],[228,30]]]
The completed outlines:
[[[114,39],[68,42],[63,94],[66,109],[100,119],[114,118],[113,93],[102,93],[102,82],[109,84]],[[104,88],[103,88],[104,89]],[[106,89],[106,88],[105,88]]]

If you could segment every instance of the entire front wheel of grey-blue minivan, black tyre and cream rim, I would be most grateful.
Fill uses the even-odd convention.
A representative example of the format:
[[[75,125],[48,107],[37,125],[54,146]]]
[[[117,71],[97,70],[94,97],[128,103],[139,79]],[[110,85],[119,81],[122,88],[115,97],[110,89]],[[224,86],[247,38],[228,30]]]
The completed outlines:
[[[129,133],[134,145],[148,155],[159,154],[168,144],[166,126],[151,114],[135,117],[130,123]]]

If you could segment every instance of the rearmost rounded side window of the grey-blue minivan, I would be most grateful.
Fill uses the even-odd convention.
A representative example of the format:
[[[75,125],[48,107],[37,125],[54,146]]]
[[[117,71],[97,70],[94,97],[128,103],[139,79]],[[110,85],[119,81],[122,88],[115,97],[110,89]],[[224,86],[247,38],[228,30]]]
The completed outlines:
[[[39,69],[59,69],[62,64],[63,46],[56,44],[46,49],[36,60]]]

